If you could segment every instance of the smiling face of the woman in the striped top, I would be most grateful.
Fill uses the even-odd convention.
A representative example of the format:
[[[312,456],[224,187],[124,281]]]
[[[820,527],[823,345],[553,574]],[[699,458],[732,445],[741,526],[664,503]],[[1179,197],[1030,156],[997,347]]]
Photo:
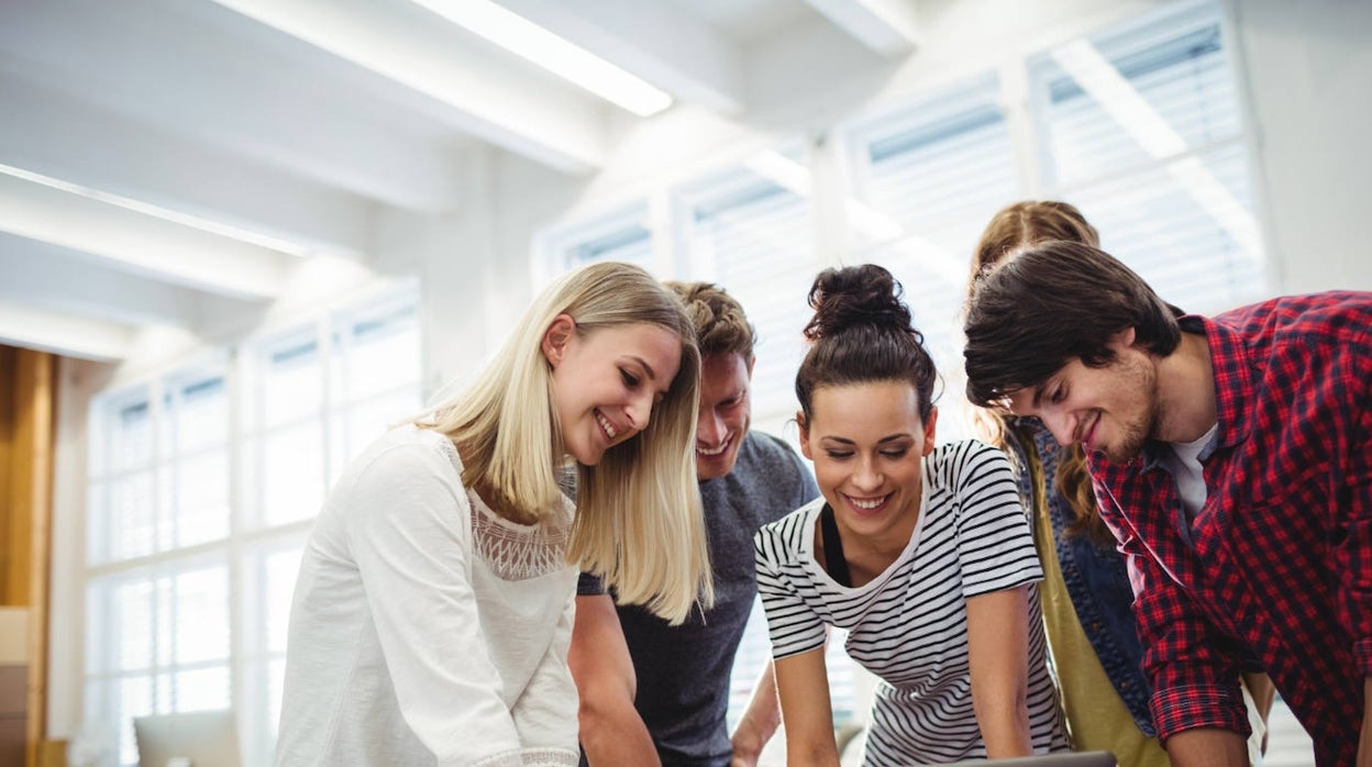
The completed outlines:
[[[800,447],[845,538],[884,549],[908,542],[937,416],[921,420],[919,394],[907,381],[815,390],[808,423],[800,418]]]

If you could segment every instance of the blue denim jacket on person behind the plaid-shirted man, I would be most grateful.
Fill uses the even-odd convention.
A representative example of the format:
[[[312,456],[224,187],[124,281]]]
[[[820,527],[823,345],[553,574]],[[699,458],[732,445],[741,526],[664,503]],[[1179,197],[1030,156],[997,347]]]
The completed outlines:
[[[1098,546],[1085,535],[1069,536],[1067,526],[1076,519],[1076,512],[1067,499],[1052,490],[1058,473],[1058,461],[1065,449],[1054,440],[1052,434],[1036,418],[1018,418],[1013,428],[1030,438],[1037,447],[1043,467],[1044,487],[1048,488],[1048,519],[1052,524],[1058,563],[1062,579],[1067,585],[1067,595],[1077,611],[1077,619],[1087,639],[1096,650],[1100,665],[1104,667],[1110,683],[1124,700],[1135,723],[1144,734],[1157,737],[1152,716],[1148,713],[1148,698],[1152,690],[1144,678],[1140,664],[1143,646],[1133,619],[1133,589],[1125,557],[1114,547]],[[1008,435],[1007,435],[1008,436]],[[1021,467],[1019,491],[1025,505],[1033,510],[1034,477],[1028,471],[1028,457],[1018,439],[1006,440],[1011,457]]]

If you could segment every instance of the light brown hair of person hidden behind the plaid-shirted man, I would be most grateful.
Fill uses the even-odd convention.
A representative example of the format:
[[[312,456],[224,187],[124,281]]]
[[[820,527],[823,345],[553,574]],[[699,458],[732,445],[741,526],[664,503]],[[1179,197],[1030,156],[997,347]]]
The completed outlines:
[[[1070,203],[1024,200],[1000,209],[986,224],[971,257],[971,276],[967,280],[969,298],[975,292],[981,279],[1015,251],[1048,240],[1100,247],[1100,235],[1096,228]],[[1010,418],[1010,413],[997,408],[977,408],[973,412],[974,428],[982,439],[1002,449],[1007,445],[1007,432],[1014,429]],[[1032,454],[1033,439],[1018,432],[1015,436],[1019,438],[1024,450]],[[1041,479],[1045,480],[1045,477]],[[1091,472],[1087,469],[1087,457],[1080,445],[1063,450],[1052,479],[1054,488],[1063,495],[1076,517],[1067,526],[1067,535],[1087,535],[1099,545],[1111,545],[1114,538],[1096,512]]]

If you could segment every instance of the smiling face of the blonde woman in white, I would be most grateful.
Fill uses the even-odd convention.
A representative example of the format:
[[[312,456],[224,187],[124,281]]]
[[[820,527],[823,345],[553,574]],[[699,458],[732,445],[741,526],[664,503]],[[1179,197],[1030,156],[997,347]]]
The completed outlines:
[[[681,369],[682,339],[648,322],[583,331],[560,314],[543,336],[563,447],[595,465],[648,427]]]

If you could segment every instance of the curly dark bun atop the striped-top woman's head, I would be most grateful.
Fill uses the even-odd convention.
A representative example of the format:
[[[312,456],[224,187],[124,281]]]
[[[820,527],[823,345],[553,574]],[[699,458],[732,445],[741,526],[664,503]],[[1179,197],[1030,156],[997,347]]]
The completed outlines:
[[[809,288],[815,316],[805,325],[805,339],[831,338],[858,325],[910,332],[903,292],[890,272],[875,263],[826,269]]]

